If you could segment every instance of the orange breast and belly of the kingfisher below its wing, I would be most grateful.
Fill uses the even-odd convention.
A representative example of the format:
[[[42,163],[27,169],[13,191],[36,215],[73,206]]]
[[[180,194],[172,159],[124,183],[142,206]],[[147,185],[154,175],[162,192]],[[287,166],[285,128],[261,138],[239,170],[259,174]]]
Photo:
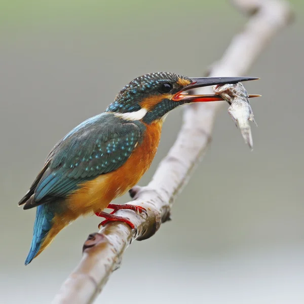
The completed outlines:
[[[103,210],[113,199],[136,185],[155,157],[161,129],[162,122],[148,125],[143,141],[136,146],[129,159],[117,170],[83,183],[67,198],[68,209],[78,215]]]

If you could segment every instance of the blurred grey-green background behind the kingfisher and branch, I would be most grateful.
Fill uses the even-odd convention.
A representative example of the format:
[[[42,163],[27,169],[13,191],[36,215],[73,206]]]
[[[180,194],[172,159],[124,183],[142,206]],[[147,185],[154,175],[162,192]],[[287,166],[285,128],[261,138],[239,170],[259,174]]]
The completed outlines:
[[[134,242],[96,303],[303,303],[304,3],[247,75],[258,128],[250,153],[225,105],[213,142],[173,208]],[[2,0],[1,302],[49,303],[100,219],[81,218],[27,267],[35,210],[17,207],[53,145],[138,75],[200,77],[247,18],[225,0]],[[145,185],[175,140],[170,113]],[[124,203],[128,196],[117,200]],[[137,288],[139,286],[139,288]]]

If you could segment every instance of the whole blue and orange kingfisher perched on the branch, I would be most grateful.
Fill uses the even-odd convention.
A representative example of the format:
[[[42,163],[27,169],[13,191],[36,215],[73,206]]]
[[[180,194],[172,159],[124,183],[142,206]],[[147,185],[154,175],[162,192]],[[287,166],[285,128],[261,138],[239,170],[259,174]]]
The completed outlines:
[[[144,74],[126,85],[97,116],[66,134],[19,202],[36,207],[33,237],[25,265],[38,256],[70,222],[96,214],[109,221],[120,209],[139,213],[135,205],[111,204],[137,184],[153,161],[163,122],[169,111],[183,104],[223,100],[219,95],[191,95],[199,87],[256,80],[251,77],[188,78],[173,72]],[[105,208],[113,212],[103,212]],[[100,227],[99,225],[99,227]]]

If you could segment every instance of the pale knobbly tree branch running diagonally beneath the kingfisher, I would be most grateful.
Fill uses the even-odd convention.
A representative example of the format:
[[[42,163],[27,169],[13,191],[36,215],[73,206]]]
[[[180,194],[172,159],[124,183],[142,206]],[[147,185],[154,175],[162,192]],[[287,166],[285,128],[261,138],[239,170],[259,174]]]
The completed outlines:
[[[289,5],[283,0],[234,0],[233,4],[251,18],[210,69],[208,74],[213,77],[245,73],[271,37],[291,19]],[[211,88],[198,91],[213,94]],[[98,233],[90,235],[78,267],[63,283],[53,304],[92,303],[111,273],[119,268],[129,244],[153,236],[161,223],[170,219],[175,197],[208,147],[216,111],[222,104],[202,103],[185,108],[178,137],[153,179],[147,186],[136,186],[130,191],[134,200],[128,204],[146,208],[147,218],[133,211],[119,210],[116,215],[127,217],[135,224],[135,235],[122,222],[107,223]]]

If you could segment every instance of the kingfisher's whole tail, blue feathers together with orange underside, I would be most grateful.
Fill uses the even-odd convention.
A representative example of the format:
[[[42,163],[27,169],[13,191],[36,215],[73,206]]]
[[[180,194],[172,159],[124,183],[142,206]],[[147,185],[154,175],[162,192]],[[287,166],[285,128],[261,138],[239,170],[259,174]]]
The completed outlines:
[[[56,216],[54,205],[56,205],[55,202],[37,206],[33,238],[25,265],[29,264],[33,258],[50,245],[59,231],[67,225],[66,222]]]

